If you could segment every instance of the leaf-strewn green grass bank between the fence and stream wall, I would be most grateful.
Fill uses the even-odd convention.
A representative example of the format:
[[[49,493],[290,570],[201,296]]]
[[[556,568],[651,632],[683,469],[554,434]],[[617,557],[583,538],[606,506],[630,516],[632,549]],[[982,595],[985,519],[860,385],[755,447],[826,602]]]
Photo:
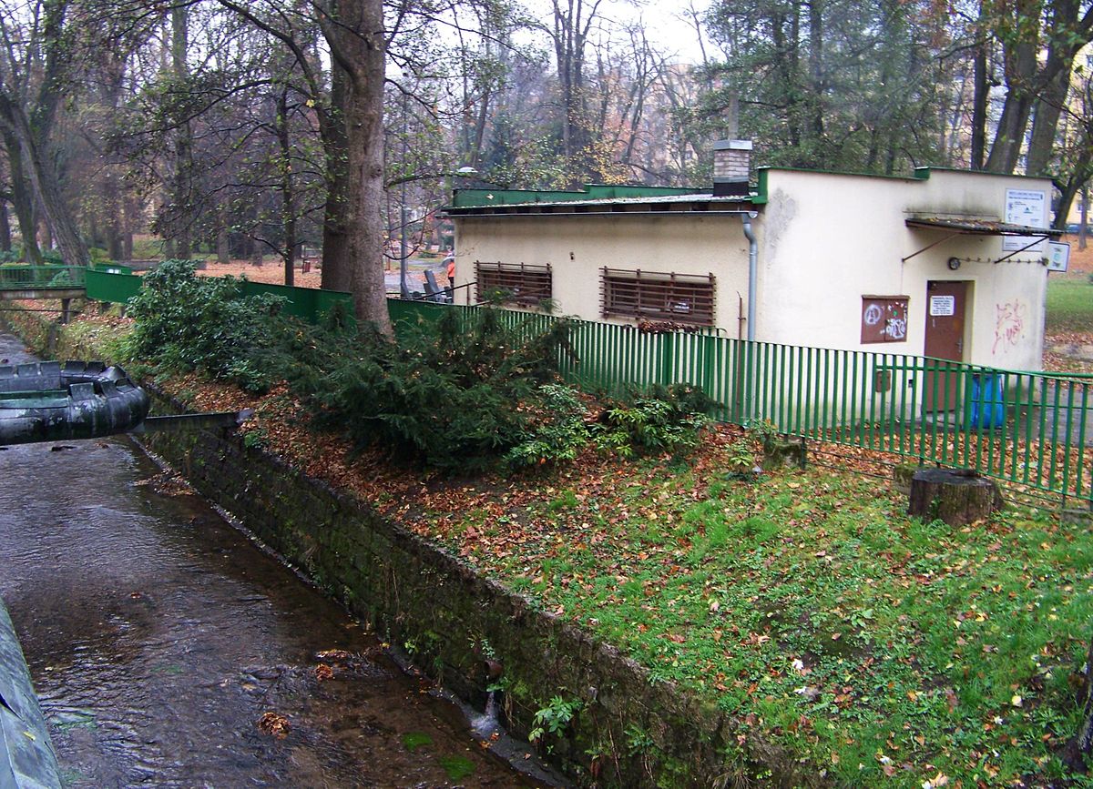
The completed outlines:
[[[595,459],[415,528],[841,785],[1065,774],[1093,616],[1084,528],[924,523],[860,474],[727,479],[736,451]]]

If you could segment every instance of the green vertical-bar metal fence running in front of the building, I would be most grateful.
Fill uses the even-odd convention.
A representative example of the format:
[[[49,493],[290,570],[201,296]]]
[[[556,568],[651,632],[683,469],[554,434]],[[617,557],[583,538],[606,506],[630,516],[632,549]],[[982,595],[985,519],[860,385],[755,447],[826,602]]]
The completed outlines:
[[[396,329],[463,318],[481,307],[390,301]],[[498,310],[522,331],[550,316]],[[1002,370],[907,354],[748,342],[712,331],[645,333],[573,320],[563,374],[593,391],[687,382],[717,403],[715,417],[875,449],[1008,481],[1033,494],[1093,506],[1093,376]]]

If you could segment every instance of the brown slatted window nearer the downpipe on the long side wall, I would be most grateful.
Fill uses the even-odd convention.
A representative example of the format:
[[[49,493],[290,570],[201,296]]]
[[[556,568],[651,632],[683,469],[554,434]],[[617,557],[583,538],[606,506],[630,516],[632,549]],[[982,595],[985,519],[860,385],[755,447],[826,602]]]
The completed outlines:
[[[600,280],[603,317],[714,325],[713,274],[677,274],[604,268]]]

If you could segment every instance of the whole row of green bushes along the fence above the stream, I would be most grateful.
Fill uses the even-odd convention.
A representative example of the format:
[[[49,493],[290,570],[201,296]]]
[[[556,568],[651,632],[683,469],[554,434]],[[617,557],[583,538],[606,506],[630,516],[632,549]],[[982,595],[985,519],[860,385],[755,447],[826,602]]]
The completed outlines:
[[[197,370],[261,392],[285,380],[320,427],[356,449],[447,472],[575,459],[595,441],[623,457],[680,451],[697,443],[708,401],[687,387],[636,396],[589,424],[579,392],[559,384],[572,353],[569,326],[506,328],[495,310],[444,310],[400,327],[399,342],[361,330],[332,310],[322,327],[281,313],[272,295],[242,296],[233,278],[198,276],[171,260],[129,303],[136,326],[124,348],[158,373]]]

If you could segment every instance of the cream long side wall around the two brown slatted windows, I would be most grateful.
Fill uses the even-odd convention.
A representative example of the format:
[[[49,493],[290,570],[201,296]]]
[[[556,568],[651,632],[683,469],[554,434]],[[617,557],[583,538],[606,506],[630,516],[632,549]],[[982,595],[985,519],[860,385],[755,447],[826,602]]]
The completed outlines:
[[[739,301],[748,297],[748,240],[739,216],[670,216],[618,213],[456,217],[456,284],[474,280],[474,261],[550,264],[557,315],[587,320],[600,314],[601,269],[709,274],[715,280],[716,320],[737,335]],[[457,291],[466,304],[468,290]],[[747,304],[745,304],[747,310]]]

